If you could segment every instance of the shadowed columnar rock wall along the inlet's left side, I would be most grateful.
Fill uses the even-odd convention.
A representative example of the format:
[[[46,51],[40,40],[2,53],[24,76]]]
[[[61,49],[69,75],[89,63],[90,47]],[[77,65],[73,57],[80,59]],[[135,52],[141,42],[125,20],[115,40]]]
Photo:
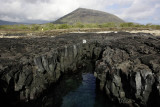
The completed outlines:
[[[33,58],[29,65],[14,66],[17,70],[2,76],[3,91],[18,92],[20,100],[38,98],[49,85],[55,83],[62,74],[74,73],[85,65],[85,60],[96,60],[102,51],[98,43],[65,46]],[[10,93],[13,94],[13,93]]]

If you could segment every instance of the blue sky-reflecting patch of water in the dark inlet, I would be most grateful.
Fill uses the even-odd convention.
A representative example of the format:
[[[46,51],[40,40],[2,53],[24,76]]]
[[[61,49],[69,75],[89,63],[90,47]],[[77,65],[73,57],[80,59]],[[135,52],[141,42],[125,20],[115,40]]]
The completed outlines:
[[[82,84],[63,97],[62,107],[94,107],[96,79],[93,74],[82,74]]]

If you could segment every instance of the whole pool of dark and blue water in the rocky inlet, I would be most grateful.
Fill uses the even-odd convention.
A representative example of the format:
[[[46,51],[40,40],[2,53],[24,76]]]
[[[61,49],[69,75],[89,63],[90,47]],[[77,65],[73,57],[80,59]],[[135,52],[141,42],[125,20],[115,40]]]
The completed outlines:
[[[63,76],[61,81],[43,98],[44,107],[113,107],[96,86],[92,73]],[[115,106],[114,106],[115,107]]]

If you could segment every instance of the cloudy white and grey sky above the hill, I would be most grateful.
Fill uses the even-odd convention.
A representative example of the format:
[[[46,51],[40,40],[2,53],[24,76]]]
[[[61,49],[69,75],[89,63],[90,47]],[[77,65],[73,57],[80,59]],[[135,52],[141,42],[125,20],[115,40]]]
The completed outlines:
[[[79,7],[112,13],[125,21],[160,24],[160,0],[0,0],[0,20],[53,21]]]

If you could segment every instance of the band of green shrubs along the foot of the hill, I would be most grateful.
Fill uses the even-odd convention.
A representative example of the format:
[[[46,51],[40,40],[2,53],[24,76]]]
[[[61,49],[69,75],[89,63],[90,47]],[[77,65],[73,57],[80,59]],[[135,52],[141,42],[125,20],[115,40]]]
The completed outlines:
[[[32,25],[0,25],[0,30],[26,30],[26,31],[50,31],[54,29],[74,29],[74,28],[143,28],[143,29],[159,29],[160,25],[153,25],[153,24],[135,24],[135,23],[103,23],[103,24],[82,24],[76,23],[73,25],[70,24],[32,24]]]

